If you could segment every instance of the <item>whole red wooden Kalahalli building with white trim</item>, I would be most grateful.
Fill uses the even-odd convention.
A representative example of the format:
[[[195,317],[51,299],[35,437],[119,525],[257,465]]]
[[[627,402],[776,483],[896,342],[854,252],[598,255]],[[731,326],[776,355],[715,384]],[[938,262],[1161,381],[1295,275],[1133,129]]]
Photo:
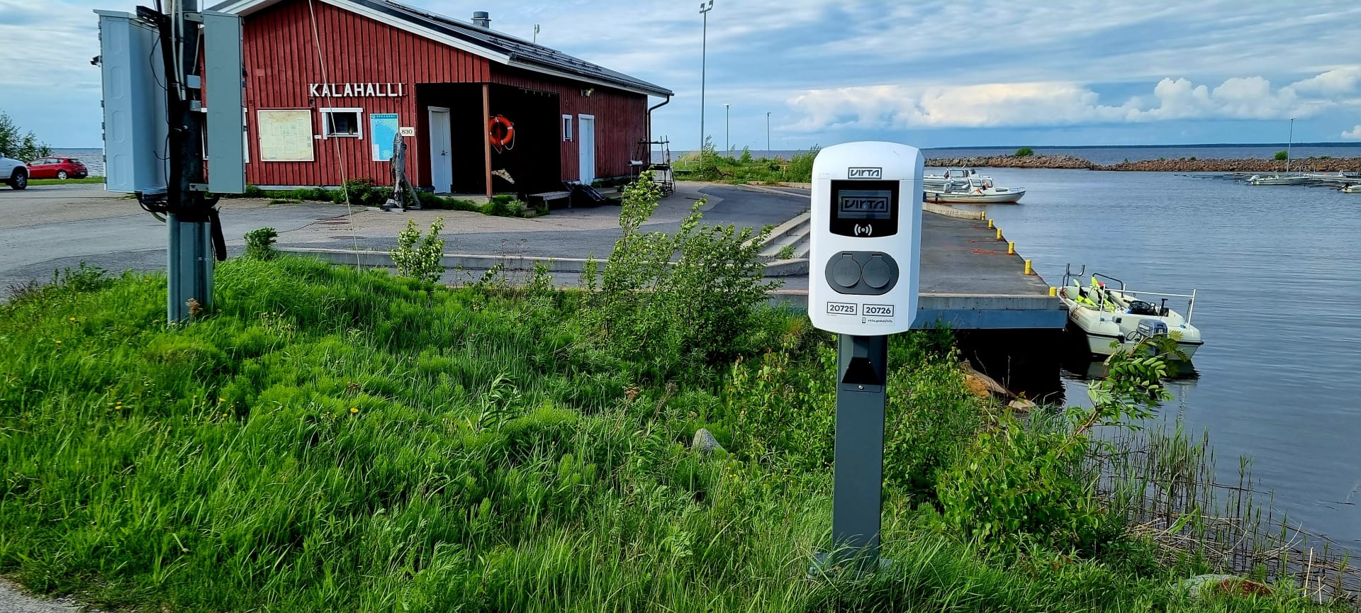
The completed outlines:
[[[441,193],[623,177],[672,95],[497,33],[486,14],[460,22],[389,0],[215,10],[244,18],[246,181],[260,186],[388,185],[396,133],[412,183]]]

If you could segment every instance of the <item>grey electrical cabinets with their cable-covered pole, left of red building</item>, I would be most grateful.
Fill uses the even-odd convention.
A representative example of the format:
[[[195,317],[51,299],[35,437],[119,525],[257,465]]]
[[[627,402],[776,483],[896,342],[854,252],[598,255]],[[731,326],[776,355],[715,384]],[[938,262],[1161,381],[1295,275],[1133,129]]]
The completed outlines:
[[[166,223],[166,319],[189,319],[212,309],[215,261],[226,260],[216,197],[204,179],[204,113],[200,68],[222,77],[214,102],[233,125],[218,128],[222,192],[242,192],[241,24],[212,14],[206,23],[196,0],[167,3],[166,11],[137,7],[136,15],[99,15],[105,148],[109,190],[132,192],[146,211]],[[159,5],[159,3],[158,3]],[[206,57],[200,23],[212,38]],[[214,118],[220,117],[214,113]],[[230,160],[235,160],[233,164]]]

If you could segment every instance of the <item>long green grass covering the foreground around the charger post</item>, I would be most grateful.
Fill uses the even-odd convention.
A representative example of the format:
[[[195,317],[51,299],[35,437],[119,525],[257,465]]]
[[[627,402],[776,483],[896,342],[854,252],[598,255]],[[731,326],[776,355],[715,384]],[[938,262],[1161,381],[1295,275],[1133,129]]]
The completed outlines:
[[[0,574],[137,610],[1305,610],[1180,599],[1195,560],[1127,538],[980,549],[931,474],[994,408],[940,338],[890,348],[885,556],[806,578],[830,525],[827,336],[637,378],[576,292],[434,290],[233,260],[166,326],[165,279],[69,276],[0,306]],[[685,442],[712,430],[731,454]],[[923,493],[927,492],[927,493]]]

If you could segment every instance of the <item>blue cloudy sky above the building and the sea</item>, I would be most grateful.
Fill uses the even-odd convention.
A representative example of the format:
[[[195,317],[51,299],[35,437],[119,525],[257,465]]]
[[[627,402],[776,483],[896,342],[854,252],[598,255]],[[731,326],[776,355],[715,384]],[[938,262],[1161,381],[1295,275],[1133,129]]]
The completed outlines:
[[[321,0],[317,0],[321,1]],[[147,3],[144,0],[144,3]],[[655,135],[700,140],[698,1],[407,0],[668,87]],[[776,150],[1361,140],[1361,3],[716,0],[705,132]],[[93,8],[0,0],[0,110],[99,145]],[[653,101],[656,103],[659,101]]]

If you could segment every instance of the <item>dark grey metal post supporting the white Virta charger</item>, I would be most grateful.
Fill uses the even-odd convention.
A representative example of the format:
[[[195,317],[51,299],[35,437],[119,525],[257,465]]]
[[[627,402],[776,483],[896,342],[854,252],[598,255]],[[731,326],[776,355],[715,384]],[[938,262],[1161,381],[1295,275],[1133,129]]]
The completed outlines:
[[[874,572],[883,511],[883,412],[889,337],[840,334],[837,432],[832,491],[832,545],[814,556],[810,575]]]

